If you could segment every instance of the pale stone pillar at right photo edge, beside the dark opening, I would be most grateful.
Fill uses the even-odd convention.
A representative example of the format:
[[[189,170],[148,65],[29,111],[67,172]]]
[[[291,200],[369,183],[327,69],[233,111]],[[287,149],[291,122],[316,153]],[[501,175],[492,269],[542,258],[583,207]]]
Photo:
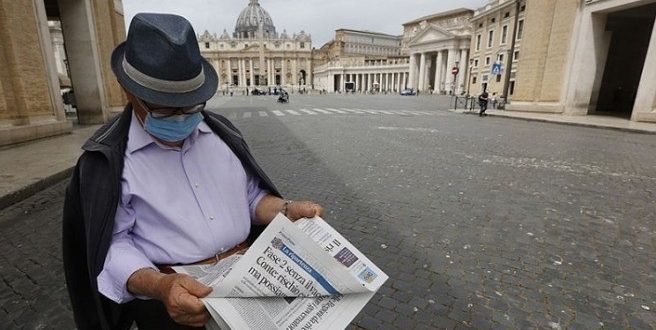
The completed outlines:
[[[647,60],[642,68],[638,94],[633,105],[631,120],[656,121],[656,22],[651,32],[651,40],[647,48]]]

